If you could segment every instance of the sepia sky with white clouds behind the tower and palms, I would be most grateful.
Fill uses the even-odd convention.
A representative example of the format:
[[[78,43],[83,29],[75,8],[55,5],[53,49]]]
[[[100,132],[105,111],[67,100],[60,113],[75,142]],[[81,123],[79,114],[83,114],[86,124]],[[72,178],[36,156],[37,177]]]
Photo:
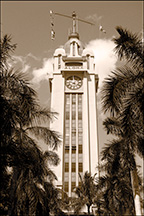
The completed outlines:
[[[84,46],[93,49],[99,90],[104,78],[117,65],[111,40],[118,36],[116,26],[138,34],[143,31],[143,1],[1,1],[1,35],[9,34],[12,43],[17,43],[13,62],[29,75],[42,105],[49,100],[47,81],[53,53],[67,42],[72,26],[71,19],[55,15],[55,40],[51,40],[50,10],[69,16],[75,11],[78,18],[95,24],[79,22],[78,32]],[[99,25],[106,34],[99,31]],[[98,106],[101,150],[109,138],[103,130],[100,102]]]

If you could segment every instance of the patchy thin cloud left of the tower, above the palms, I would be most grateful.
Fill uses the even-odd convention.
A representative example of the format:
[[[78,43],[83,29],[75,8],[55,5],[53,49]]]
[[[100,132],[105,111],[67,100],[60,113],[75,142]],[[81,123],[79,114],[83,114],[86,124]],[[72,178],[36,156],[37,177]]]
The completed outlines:
[[[49,104],[48,78],[52,76],[53,59],[48,57],[37,58],[29,53],[26,56],[12,56],[8,64],[15,71],[21,71],[26,75],[25,77],[30,81],[32,88],[37,91],[41,105],[47,106]]]

